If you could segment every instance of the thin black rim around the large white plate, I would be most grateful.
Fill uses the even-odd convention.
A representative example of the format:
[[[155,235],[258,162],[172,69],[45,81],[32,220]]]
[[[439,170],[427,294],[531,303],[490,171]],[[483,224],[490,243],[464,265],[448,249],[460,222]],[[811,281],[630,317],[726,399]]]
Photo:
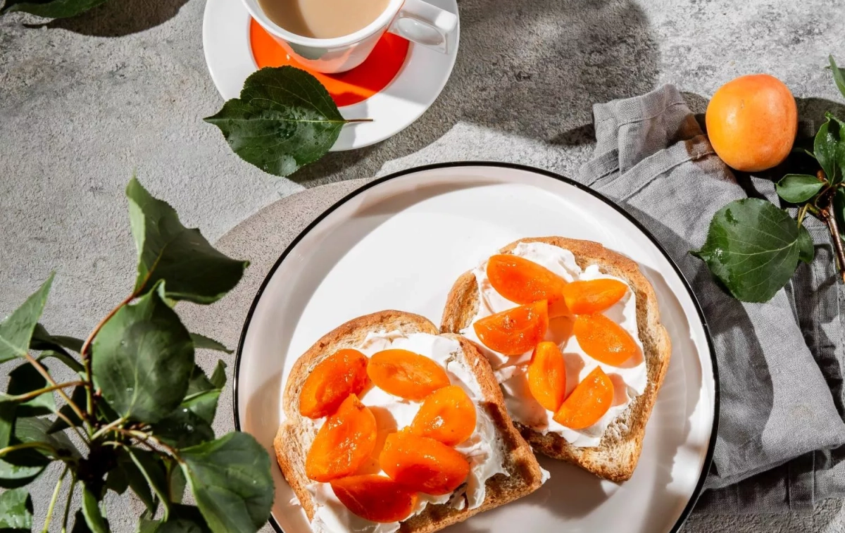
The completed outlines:
[[[684,273],[681,272],[681,269],[679,269],[678,265],[675,264],[674,260],[666,252],[666,249],[664,247],[662,247],[662,244],[660,244],[660,242],[657,242],[657,239],[655,239],[654,236],[651,235],[651,232],[648,231],[646,229],[646,227],[643,226],[640,223],[639,220],[636,220],[633,216],[629,215],[627,211],[625,211],[624,209],[619,207],[619,205],[614,204],[613,201],[605,198],[602,194],[597,193],[596,191],[592,190],[591,188],[588,188],[588,187],[586,187],[585,185],[582,185],[579,182],[575,182],[575,180],[572,180],[569,177],[564,177],[564,176],[561,176],[560,174],[556,174],[552,171],[546,171],[546,170],[542,170],[542,169],[539,169],[539,168],[534,168],[532,166],[518,165],[516,163],[502,163],[502,162],[498,162],[498,161],[455,161],[455,162],[450,162],[450,163],[436,163],[436,164],[433,164],[433,165],[415,166],[413,168],[409,168],[409,169],[406,169],[404,171],[398,171],[398,172],[394,172],[393,174],[389,174],[389,175],[384,176],[384,177],[379,177],[379,178],[373,180],[372,182],[365,183],[360,188],[357,188],[354,191],[352,191],[352,193],[346,194],[346,196],[344,196],[342,199],[335,202],[335,204],[333,204],[329,209],[326,209],[322,214],[320,214],[316,219],[314,219],[310,224],[308,224],[308,226],[303,231],[301,231],[299,233],[299,235],[297,235],[297,237],[295,239],[293,239],[293,241],[285,248],[285,251],[281,253],[279,258],[276,259],[275,264],[273,264],[272,268],[270,268],[270,271],[267,273],[267,275],[264,276],[264,281],[261,282],[261,286],[259,287],[258,293],[255,295],[255,298],[253,300],[252,305],[249,306],[249,313],[247,313],[247,319],[243,323],[243,329],[241,330],[241,337],[240,337],[240,340],[238,340],[238,343],[237,343],[237,354],[235,356],[235,373],[234,373],[234,378],[232,380],[232,382],[233,382],[232,386],[234,388],[234,390],[232,391],[232,403],[233,403],[233,408],[234,408],[235,429],[237,431],[241,431],[241,421],[238,418],[237,383],[238,383],[238,377],[239,377],[240,371],[241,371],[241,356],[243,355],[243,341],[246,339],[247,331],[249,329],[249,324],[252,322],[253,313],[255,312],[255,307],[258,305],[258,302],[261,299],[261,296],[264,294],[264,289],[266,288],[267,284],[270,283],[270,279],[273,277],[273,275],[275,274],[275,271],[279,268],[282,261],[284,261],[285,258],[287,258],[288,254],[291,253],[293,248],[297,247],[297,244],[300,241],[303,240],[303,237],[308,235],[308,233],[310,231],[312,231],[314,227],[316,227],[327,216],[329,216],[332,212],[334,212],[335,209],[339,208],[343,204],[346,204],[346,202],[348,202],[350,199],[356,197],[358,194],[363,193],[364,191],[367,191],[370,188],[377,187],[379,184],[384,183],[384,182],[388,182],[388,181],[395,179],[397,177],[406,176],[408,174],[414,174],[416,172],[437,170],[437,169],[442,169],[442,168],[455,168],[455,167],[461,167],[461,166],[495,166],[495,167],[499,167],[499,168],[509,168],[509,169],[513,169],[513,170],[516,170],[516,171],[533,172],[535,174],[540,174],[542,176],[546,176],[546,177],[550,177],[552,179],[558,180],[559,182],[567,183],[567,184],[571,185],[572,187],[575,187],[575,188],[580,189],[581,191],[584,191],[585,193],[591,194],[595,198],[602,201],[604,204],[608,204],[610,207],[615,209],[619,213],[619,215],[624,216],[625,219],[629,220],[638,230],[640,230],[646,237],[648,237],[649,240],[654,244],[654,246],[657,247],[657,249],[660,251],[660,253],[663,254],[663,257],[666,258],[668,263],[672,265],[672,268],[674,269],[675,274],[678,275],[678,277],[681,280],[681,283],[684,284],[684,288],[686,289],[687,293],[689,293],[690,299],[692,300],[693,305],[695,306],[695,311],[696,311],[696,313],[698,313],[698,318],[701,320],[701,325],[704,329],[704,334],[705,334],[705,337],[706,337],[706,340],[707,340],[707,347],[710,350],[710,359],[711,359],[712,366],[713,366],[713,383],[714,383],[715,395],[714,395],[714,401],[713,401],[713,427],[712,427],[711,434],[710,434],[710,443],[708,443],[708,445],[707,445],[707,454],[704,458],[704,464],[701,465],[701,474],[699,475],[698,482],[695,484],[695,490],[690,495],[690,501],[686,504],[686,507],[684,507],[684,510],[681,511],[681,514],[678,517],[678,521],[675,522],[675,525],[673,525],[672,529],[668,531],[668,533],[677,533],[681,529],[681,526],[684,525],[684,522],[686,521],[686,519],[690,516],[690,513],[692,512],[692,509],[695,507],[695,503],[698,501],[699,496],[701,496],[701,489],[704,487],[704,481],[706,479],[707,472],[710,471],[710,466],[711,466],[711,463],[713,462],[713,449],[715,449],[715,447],[716,447],[716,436],[717,436],[718,426],[719,426],[719,398],[720,398],[720,394],[719,394],[719,371],[718,371],[718,365],[717,365],[717,361],[716,361],[716,352],[713,349],[713,340],[712,340],[711,334],[710,334],[710,327],[707,325],[707,321],[706,321],[706,318],[704,317],[704,313],[701,311],[701,304],[699,304],[698,298],[695,297],[695,294],[693,293],[692,288],[690,287],[690,282],[686,279],[686,276],[684,276]],[[279,533],[285,533],[285,530],[281,529],[281,525],[279,525],[278,522],[275,521],[275,518],[273,517],[272,514],[270,514],[269,522],[270,522],[270,525],[273,526],[274,530],[278,531]]]

